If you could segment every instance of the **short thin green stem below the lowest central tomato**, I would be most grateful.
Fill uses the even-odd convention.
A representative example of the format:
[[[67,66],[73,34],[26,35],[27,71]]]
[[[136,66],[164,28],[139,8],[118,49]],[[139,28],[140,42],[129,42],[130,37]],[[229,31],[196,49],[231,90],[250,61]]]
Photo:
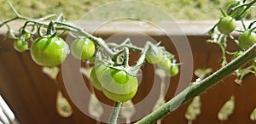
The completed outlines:
[[[114,104],[111,116],[109,118],[109,122],[108,122],[109,124],[116,124],[116,121],[119,117],[119,110],[121,108],[121,105],[122,105],[122,103],[119,103],[119,102],[116,102]]]

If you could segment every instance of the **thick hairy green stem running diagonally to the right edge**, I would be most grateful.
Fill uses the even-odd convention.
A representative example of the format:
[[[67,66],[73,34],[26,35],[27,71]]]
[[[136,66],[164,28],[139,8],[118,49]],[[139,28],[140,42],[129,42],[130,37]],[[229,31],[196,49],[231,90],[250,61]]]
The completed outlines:
[[[148,116],[145,116],[142,120],[137,121],[136,124],[149,124],[154,123],[160,118],[168,115],[173,110],[176,110],[182,104],[188,102],[190,99],[195,98],[195,96],[203,93],[207,88],[212,87],[212,85],[222,81],[226,76],[229,76],[235,70],[237,70],[242,65],[247,64],[247,62],[253,60],[256,57],[256,44],[249,48],[244,54],[241,54],[236,59],[232,60],[229,64],[222,67],[220,70],[208,76],[201,82],[192,83],[189,87],[185,88],[181,93],[178,93],[176,97],[168,101],[166,104],[161,106],[158,110],[155,110]]]

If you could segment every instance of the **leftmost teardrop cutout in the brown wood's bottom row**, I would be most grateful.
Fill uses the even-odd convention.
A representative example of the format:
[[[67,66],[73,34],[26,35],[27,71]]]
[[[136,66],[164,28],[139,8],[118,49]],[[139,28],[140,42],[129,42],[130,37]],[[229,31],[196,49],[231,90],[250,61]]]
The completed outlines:
[[[73,114],[71,105],[68,103],[67,99],[63,97],[60,91],[57,93],[56,106],[58,114],[62,117],[69,117]]]

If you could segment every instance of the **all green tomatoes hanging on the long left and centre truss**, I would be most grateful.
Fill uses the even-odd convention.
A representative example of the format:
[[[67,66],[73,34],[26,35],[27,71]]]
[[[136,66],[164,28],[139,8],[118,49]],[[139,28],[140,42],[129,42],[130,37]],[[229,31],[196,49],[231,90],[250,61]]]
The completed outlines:
[[[94,42],[99,44],[98,41],[93,41],[92,39],[91,37],[78,37],[74,39],[70,45],[70,51],[75,59],[91,60],[96,53]],[[31,34],[27,32],[23,33],[14,43],[15,50],[24,52],[28,49],[28,40],[32,40]],[[154,44],[150,44],[149,46],[146,52],[141,51],[144,54],[142,55],[143,62],[146,60],[150,64],[158,65],[162,70],[165,70],[166,76],[176,76],[179,71],[178,66],[172,57],[166,55],[166,50]],[[97,49],[99,53],[102,53],[102,51],[102,49]],[[119,49],[119,51],[122,50]],[[116,102],[125,102],[132,99],[137,93],[137,71],[129,70],[129,52],[128,54],[126,53],[125,58],[125,55],[122,56],[122,54],[119,54],[119,51],[115,49],[113,50],[113,55],[100,55],[101,57],[98,59],[102,59],[102,56],[104,56],[104,60],[106,61],[103,60],[100,63],[94,63],[95,66],[90,72],[90,81],[91,85],[97,90],[102,91],[108,99]],[[61,65],[67,58],[67,54],[69,54],[67,42],[61,37],[56,36],[56,34],[49,36],[39,35],[31,45],[32,59],[38,65]],[[111,57],[114,55],[117,57]]]

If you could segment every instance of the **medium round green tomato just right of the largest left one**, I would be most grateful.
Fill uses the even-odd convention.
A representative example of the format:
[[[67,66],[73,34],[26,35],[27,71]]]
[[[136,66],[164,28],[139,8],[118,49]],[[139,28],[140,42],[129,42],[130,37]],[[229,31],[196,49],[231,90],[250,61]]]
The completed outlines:
[[[95,45],[89,38],[77,38],[71,44],[71,52],[76,59],[90,59],[95,53]]]

